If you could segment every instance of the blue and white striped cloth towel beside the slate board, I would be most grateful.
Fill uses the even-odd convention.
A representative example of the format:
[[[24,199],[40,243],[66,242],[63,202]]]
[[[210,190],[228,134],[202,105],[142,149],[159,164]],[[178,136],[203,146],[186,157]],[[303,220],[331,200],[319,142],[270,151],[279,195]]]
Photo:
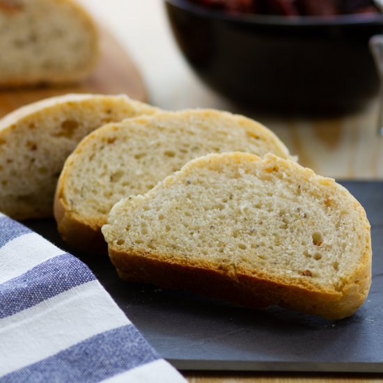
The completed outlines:
[[[185,382],[84,263],[0,213],[0,382]]]

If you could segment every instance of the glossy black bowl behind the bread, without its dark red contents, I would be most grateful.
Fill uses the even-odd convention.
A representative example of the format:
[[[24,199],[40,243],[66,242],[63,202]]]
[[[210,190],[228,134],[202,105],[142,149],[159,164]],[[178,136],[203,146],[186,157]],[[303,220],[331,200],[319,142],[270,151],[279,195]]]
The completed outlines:
[[[380,80],[368,40],[383,15],[231,14],[166,0],[175,39],[215,91],[254,109],[337,112],[364,107]]]

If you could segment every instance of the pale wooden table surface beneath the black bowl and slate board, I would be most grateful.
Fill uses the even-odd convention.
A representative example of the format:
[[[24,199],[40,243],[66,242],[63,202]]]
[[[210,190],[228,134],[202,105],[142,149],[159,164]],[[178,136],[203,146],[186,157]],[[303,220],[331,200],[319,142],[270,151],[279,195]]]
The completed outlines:
[[[383,179],[383,136],[377,136],[377,100],[338,118],[254,114],[226,102],[199,81],[183,60],[160,0],[81,0],[126,47],[141,71],[149,102],[163,109],[212,107],[246,114],[272,129],[315,172],[338,179]],[[382,375],[183,372],[189,382],[360,383]]]

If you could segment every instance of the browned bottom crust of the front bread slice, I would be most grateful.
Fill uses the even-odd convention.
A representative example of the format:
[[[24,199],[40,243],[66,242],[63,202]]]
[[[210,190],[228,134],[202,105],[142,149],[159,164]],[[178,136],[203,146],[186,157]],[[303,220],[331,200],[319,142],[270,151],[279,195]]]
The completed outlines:
[[[369,258],[366,249],[364,258]],[[225,299],[251,308],[272,304],[337,320],[352,315],[370,288],[370,263],[364,263],[342,291],[310,290],[238,273],[235,277],[217,269],[182,265],[150,254],[123,253],[109,247],[111,262],[125,281],[153,283],[163,288],[186,288],[208,297]]]

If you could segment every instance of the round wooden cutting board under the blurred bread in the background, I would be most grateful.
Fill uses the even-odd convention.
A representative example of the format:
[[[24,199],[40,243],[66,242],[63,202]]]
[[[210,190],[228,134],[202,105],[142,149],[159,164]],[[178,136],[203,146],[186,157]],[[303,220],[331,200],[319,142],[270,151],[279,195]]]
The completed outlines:
[[[147,101],[139,70],[126,49],[108,31],[100,30],[101,59],[88,79],[68,86],[0,91],[0,117],[24,104],[65,93],[126,93],[135,100]]]

